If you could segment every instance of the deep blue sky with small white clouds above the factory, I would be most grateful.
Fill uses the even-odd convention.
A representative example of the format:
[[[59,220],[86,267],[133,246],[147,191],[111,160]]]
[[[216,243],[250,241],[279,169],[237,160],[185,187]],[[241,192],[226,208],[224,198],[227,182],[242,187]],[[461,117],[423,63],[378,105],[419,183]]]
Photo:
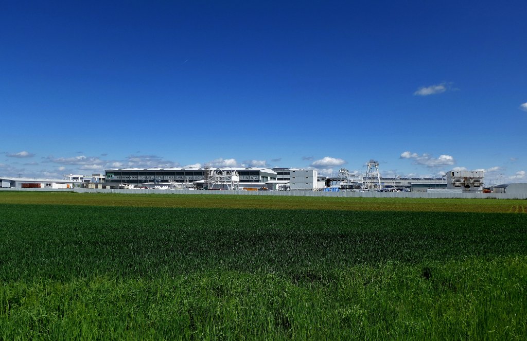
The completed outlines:
[[[0,175],[212,163],[527,182],[527,3],[4,2]],[[523,105],[523,106],[522,106]]]

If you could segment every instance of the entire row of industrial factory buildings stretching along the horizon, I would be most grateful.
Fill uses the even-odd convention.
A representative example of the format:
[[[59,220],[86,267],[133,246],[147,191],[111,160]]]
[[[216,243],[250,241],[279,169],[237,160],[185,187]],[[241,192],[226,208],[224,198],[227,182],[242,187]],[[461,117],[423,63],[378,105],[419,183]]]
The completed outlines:
[[[301,168],[126,168],[109,169],[105,174],[83,176],[65,174],[63,179],[0,177],[2,187],[18,188],[155,188],[207,190],[307,190],[426,192],[429,190],[483,190],[483,171],[452,170],[445,177],[382,177],[375,160],[367,162],[365,174],[340,169],[327,177],[317,170]],[[509,185],[496,187],[504,192]],[[515,187],[507,191],[516,191]],[[523,188],[518,189],[520,191]]]

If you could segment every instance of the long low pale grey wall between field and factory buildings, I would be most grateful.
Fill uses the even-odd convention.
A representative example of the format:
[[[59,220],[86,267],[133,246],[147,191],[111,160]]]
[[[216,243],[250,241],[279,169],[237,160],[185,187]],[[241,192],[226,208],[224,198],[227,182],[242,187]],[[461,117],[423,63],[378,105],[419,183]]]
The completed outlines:
[[[290,197],[349,197],[349,198],[460,198],[460,199],[527,199],[527,193],[438,193],[438,192],[318,192],[310,190],[291,191],[208,191],[208,190],[141,190],[141,189],[32,189],[32,188],[2,188],[2,191],[50,191],[77,193],[123,193],[123,194],[242,194],[248,196],[290,196]]]

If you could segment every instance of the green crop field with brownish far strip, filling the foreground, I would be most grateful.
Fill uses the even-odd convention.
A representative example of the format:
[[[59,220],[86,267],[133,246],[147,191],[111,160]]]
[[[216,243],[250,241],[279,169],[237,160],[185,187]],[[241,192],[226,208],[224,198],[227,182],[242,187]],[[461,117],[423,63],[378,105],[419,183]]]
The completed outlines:
[[[527,201],[0,192],[0,340],[525,339]]]

